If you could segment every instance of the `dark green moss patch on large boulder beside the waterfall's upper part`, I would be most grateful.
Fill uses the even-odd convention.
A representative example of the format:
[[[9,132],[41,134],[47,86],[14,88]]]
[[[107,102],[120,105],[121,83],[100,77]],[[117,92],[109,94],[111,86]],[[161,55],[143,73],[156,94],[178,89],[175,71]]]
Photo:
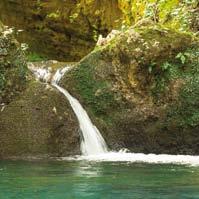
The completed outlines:
[[[93,54],[91,59],[95,61],[99,53]],[[113,110],[118,106],[114,100],[114,95],[111,92],[111,85],[108,81],[98,80],[95,77],[95,68],[90,67],[87,60],[81,62],[81,64],[72,71],[72,75],[75,79],[75,88],[81,95],[82,99],[90,107],[92,113],[97,116],[108,120],[110,119],[110,110]]]

